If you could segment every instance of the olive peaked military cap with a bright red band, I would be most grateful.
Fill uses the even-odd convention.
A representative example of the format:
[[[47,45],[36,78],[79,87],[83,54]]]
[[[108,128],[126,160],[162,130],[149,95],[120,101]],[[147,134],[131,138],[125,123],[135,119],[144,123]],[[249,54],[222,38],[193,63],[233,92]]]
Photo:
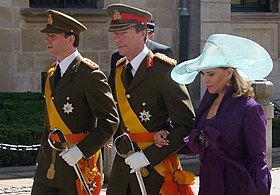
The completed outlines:
[[[136,25],[147,25],[152,19],[152,14],[146,10],[124,4],[111,4],[107,7],[111,17],[109,32],[125,30]]]

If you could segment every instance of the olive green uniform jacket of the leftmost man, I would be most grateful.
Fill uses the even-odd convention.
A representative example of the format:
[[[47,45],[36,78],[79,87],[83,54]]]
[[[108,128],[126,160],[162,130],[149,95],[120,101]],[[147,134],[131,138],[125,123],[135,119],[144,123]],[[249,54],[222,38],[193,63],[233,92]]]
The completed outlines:
[[[72,133],[89,132],[89,135],[77,144],[86,158],[95,154],[113,135],[119,119],[107,78],[98,65],[84,61],[77,56],[54,87],[54,74],[50,77],[52,98],[56,109]],[[72,112],[63,107],[71,104]],[[59,127],[58,127],[59,128]],[[52,148],[48,144],[50,132],[48,116],[42,135],[41,149],[37,158],[38,166],[35,181],[57,188],[76,188],[77,175],[62,157],[56,154],[54,179],[47,179]]]

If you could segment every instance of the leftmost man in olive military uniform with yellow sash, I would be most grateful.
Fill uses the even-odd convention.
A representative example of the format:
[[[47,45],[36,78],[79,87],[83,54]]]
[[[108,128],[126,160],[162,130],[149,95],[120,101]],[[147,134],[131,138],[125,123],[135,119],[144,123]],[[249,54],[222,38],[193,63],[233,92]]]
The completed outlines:
[[[32,187],[34,195],[78,194],[83,186],[74,171],[79,166],[88,186],[99,191],[97,159],[100,148],[113,135],[119,119],[105,74],[77,50],[79,34],[87,28],[64,13],[48,10],[48,52],[57,61],[48,71],[45,86],[46,125]],[[58,128],[63,140],[54,129]],[[49,141],[49,143],[48,143]],[[53,149],[52,147],[56,148]],[[63,147],[60,147],[60,146]]]

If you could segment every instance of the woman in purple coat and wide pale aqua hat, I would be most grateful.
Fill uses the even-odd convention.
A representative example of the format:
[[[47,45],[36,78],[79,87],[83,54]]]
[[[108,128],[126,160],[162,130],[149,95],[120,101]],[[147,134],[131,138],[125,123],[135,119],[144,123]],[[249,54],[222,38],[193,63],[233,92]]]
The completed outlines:
[[[199,195],[269,194],[266,116],[253,99],[250,80],[263,79],[271,70],[264,48],[225,34],[210,36],[198,58],[173,69],[172,79],[182,84],[201,73],[207,88],[193,130],[184,139],[189,154],[200,155]],[[163,134],[155,136],[157,145],[168,142],[159,138]]]

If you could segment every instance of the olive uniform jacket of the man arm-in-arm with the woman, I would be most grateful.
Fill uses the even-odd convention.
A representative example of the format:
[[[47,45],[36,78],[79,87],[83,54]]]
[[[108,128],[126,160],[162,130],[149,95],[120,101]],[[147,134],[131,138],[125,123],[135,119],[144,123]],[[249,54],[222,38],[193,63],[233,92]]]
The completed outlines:
[[[129,97],[128,101],[139,120],[141,121],[140,116],[144,111],[151,115],[149,120],[141,121],[149,132],[167,128],[169,120],[174,126],[168,136],[169,146],[159,148],[152,144],[143,150],[150,162],[147,166],[150,174],[144,178],[144,183],[147,193],[154,195],[159,194],[164,178],[153,167],[184,145],[183,138],[192,127],[194,109],[185,85],[171,79],[170,73],[174,67],[169,62],[171,59],[156,55],[153,57],[153,66],[148,67],[147,57],[152,55],[150,52],[142,61],[129,87],[126,84],[125,71],[122,71],[121,79]],[[125,129],[123,121],[120,125],[121,129]],[[135,147],[139,150],[136,145]],[[128,186],[133,195],[141,194],[135,174],[130,173],[130,167],[125,164],[124,158],[116,155],[107,194],[125,195]]]

